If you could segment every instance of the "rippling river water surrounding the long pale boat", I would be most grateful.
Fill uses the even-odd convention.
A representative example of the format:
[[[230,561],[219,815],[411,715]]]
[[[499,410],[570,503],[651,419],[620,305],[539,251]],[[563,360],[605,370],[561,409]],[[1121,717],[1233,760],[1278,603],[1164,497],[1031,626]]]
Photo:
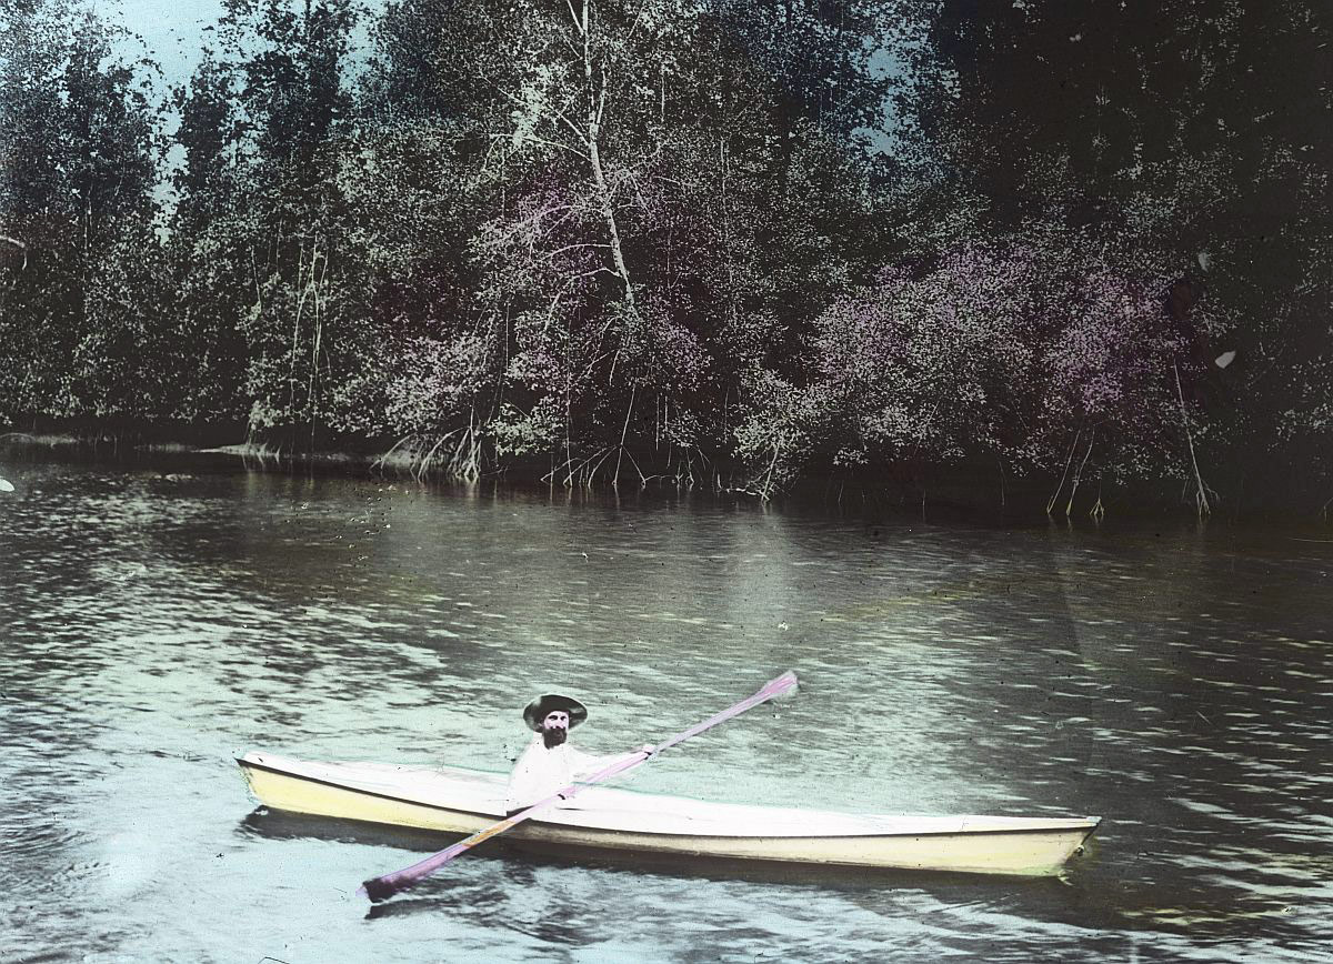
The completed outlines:
[[[1328,528],[3,469],[4,960],[1330,959]],[[545,689],[613,752],[786,668],[631,785],[1097,813],[1093,845],[1049,880],[479,851],[371,911],[441,843],[268,813],[233,763],[505,769]]]

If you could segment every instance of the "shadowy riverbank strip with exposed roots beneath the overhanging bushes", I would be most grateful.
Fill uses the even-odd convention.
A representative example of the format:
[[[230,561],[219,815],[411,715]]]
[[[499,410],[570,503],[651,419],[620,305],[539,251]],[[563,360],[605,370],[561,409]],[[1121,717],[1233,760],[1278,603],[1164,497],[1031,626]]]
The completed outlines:
[[[260,471],[277,473],[333,475],[409,480],[435,487],[504,487],[532,491],[615,492],[657,496],[716,497],[738,503],[818,511],[833,516],[914,517],[980,525],[1030,524],[1046,517],[1057,521],[1098,523],[1106,516],[1196,517],[1192,499],[1180,483],[1098,487],[1084,481],[1070,496],[1072,483],[1048,476],[1014,477],[998,467],[941,467],[924,461],[890,469],[845,471],[809,475],[781,492],[764,493],[742,467],[720,464],[694,453],[627,451],[600,453],[596,472],[547,459],[509,459],[501,465],[477,464],[475,472],[449,471],[443,459],[384,439],[340,439],[337,447],[315,451],[272,443],[244,441],[244,425],[148,425],[95,424],[88,421],[39,421],[29,431],[0,432],[0,464],[8,461],[111,461],[128,467],[161,467],[163,476],[203,472]],[[236,441],[243,439],[241,441]],[[620,463],[619,484],[613,484]],[[13,471],[9,469],[12,480]],[[0,472],[4,476],[4,472]],[[1210,515],[1230,521],[1329,523],[1329,505],[1314,499],[1282,503],[1246,493],[1225,493]]]

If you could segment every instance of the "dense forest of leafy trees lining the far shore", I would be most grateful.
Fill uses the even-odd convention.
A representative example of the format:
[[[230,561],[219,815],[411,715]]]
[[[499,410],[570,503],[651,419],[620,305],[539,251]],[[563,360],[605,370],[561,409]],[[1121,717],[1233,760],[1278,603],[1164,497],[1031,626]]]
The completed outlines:
[[[0,0],[0,427],[1326,513],[1329,33],[1294,0],[225,0],[163,91],[115,8]]]

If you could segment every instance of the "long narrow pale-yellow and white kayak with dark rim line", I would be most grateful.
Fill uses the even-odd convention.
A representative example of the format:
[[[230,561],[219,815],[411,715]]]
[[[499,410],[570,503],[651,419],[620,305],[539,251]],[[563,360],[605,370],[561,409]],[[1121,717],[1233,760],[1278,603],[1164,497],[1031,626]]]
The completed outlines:
[[[469,835],[505,816],[507,775],[464,767],[236,760],[276,811]],[[589,787],[505,836],[557,848],[834,867],[1053,876],[1100,817],[898,816],[708,803]]]

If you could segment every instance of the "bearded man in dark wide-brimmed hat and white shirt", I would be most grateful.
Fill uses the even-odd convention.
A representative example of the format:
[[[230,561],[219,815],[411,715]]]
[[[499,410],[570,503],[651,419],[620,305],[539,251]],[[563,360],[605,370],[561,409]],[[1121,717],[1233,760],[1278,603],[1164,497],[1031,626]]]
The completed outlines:
[[[509,773],[505,809],[511,816],[545,800],[576,780],[587,780],[617,760],[653,752],[653,747],[645,744],[633,753],[611,756],[584,753],[569,743],[569,731],[588,719],[588,708],[579,700],[560,693],[547,693],[535,699],[524,708],[523,719],[533,731],[533,737]]]

